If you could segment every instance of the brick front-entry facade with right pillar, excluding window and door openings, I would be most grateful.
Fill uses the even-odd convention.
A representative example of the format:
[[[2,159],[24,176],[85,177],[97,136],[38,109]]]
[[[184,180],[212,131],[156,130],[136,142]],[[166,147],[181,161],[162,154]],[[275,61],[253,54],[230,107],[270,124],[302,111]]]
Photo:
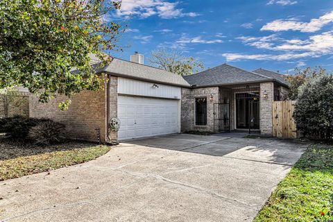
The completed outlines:
[[[282,89],[282,88],[280,88]],[[264,91],[268,97],[264,99]],[[287,89],[284,89],[287,90]],[[262,135],[272,135],[273,133],[273,99],[274,84],[260,83],[260,85],[250,85],[250,90],[246,86],[235,86],[230,89],[219,87],[207,87],[198,89],[182,89],[182,109],[181,124],[182,132],[188,130],[214,131],[214,103],[223,103],[229,100],[230,103],[230,130],[234,130],[234,94],[242,92],[259,92],[260,94],[260,130]],[[213,95],[213,101],[210,101],[210,95]],[[207,126],[194,126],[194,102],[195,98],[207,98]],[[216,130],[219,122],[216,121]]]

